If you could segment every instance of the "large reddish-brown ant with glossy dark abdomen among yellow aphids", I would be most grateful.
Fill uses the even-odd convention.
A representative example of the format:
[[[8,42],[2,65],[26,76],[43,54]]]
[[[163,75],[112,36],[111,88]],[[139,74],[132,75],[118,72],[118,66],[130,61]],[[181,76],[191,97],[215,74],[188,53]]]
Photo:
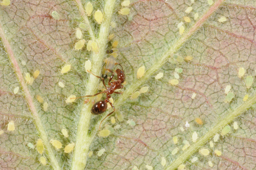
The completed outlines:
[[[118,64],[119,66],[121,66],[119,63],[115,63],[115,65]],[[122,70],[120,69],[116,69],[115,72],[117,73],[117,80],[116,81],[112,81],[112,78],[114,77],[114,72],[110,69],[106,69],[108,70],[110,73],[112,73],[111,77],[109,78],[108,80],[108,85],[109,87],[106,87],[105,85],[105,82],[104,82],[104,77],[99,77],[99,76],[96,76],[94,75],[92,72],[90,72],[89,70],[87,70],[88,72],[90,72],[92,75],[94,75],[95,77],[97,78],[100,78],[102,80],[102,83],[103,85],[105,86],[105,88],[107,90],[105,91],[102,91],[100,93],[96,93],[94,95],[89,95],[89,96],[82,96],[82,97],[92,97],[92,96],[96,96],[98,94],[101,94],[101,93],[106,93],[106,99],[105,100],[101,100],[101,101],[98,101],[97,103],[95,103],[93,105],[93,107],[91,108],[91,113],[92,114],[102,114],[104,113],[106,110],[107,110],[107,103],[109,103],[111,105],[111,107],[114,109],[111,113],[109,113],[104,119],[106,119],[109,115],[111,115],[114,111],[115,111],[115,107],[114,105],[111,103],[111,101],[109,101],[109,98],[111,98],[110,94],[113,94],[113,93],[116,93],[116,94],[123,94],[122,92],[115,92],[115,90],[117,89],[121,89],[123,88],[124,86],[122,85],[122,83],[124,83],[125,81],[125,73],[123,71],[123,67],[121,66]],[[76,98],[81,98],[81,97],[76,97]],[[102,121],[104,121],[104,119]],[[101,123],[102,123],[101,121]],[[101,123],[100,123],[100,127],[99,127],[99,130],[101,129]]]

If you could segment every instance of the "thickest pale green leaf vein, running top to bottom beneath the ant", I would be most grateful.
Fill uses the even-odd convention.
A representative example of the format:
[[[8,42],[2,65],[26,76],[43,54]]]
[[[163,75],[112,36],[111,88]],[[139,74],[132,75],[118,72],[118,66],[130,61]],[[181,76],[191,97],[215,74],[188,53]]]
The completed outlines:
[[[98,75],[101,73],[102,62],[105,55],[106,42],[108,39],[109,26],[113,14],[115,1],[106,0],[103,14],[103,22],[101,23],[101,27],[99,30],[98,39],[95,41],[99,46],[99,53],[92,52],[92,69],[91,72]],[[96,93],[99,79],[92,74],[90,74],[89,81],[86,85],[87,93],[86,95],[91,95]],[[90,125],[90,117],[92,104],[87,103],[81,107],[81,115],[80,120],[77,127],[77,138],[76,138],[76,146],[74,149],[74,155],[72,160],[72,169],[73,170],[82,170],[85,168],[87,155],[91,144],[91,137],[88,135],[89,125]]]

